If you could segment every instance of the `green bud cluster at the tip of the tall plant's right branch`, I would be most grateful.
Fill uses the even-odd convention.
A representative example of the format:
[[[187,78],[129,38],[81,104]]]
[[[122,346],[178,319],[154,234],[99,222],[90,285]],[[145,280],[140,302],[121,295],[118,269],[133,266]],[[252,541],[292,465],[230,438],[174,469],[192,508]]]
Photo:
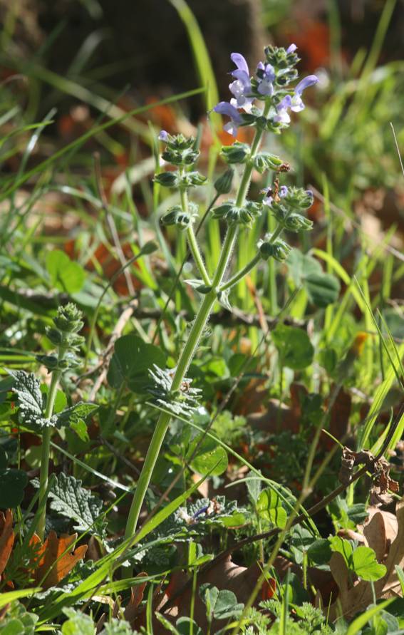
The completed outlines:
[[[313,227],[313,222],[299,214],[313,205],[313,192],[303,187],[286,187],[283,185],[279,192],[270,190],[269,196],[263,201],[268,205],[281,227],[289,232],[300,232]]]

